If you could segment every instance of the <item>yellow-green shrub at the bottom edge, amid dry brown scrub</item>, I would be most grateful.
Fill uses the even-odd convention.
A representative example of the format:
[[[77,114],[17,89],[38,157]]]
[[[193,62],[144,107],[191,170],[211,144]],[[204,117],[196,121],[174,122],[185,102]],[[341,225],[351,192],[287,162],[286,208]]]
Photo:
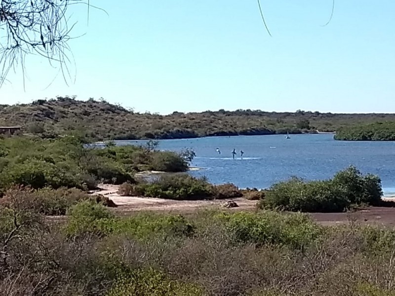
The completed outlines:
[[[155,269],[136,269],[119,276],[107,296],[203,296],[196,284],[172,280]]]

